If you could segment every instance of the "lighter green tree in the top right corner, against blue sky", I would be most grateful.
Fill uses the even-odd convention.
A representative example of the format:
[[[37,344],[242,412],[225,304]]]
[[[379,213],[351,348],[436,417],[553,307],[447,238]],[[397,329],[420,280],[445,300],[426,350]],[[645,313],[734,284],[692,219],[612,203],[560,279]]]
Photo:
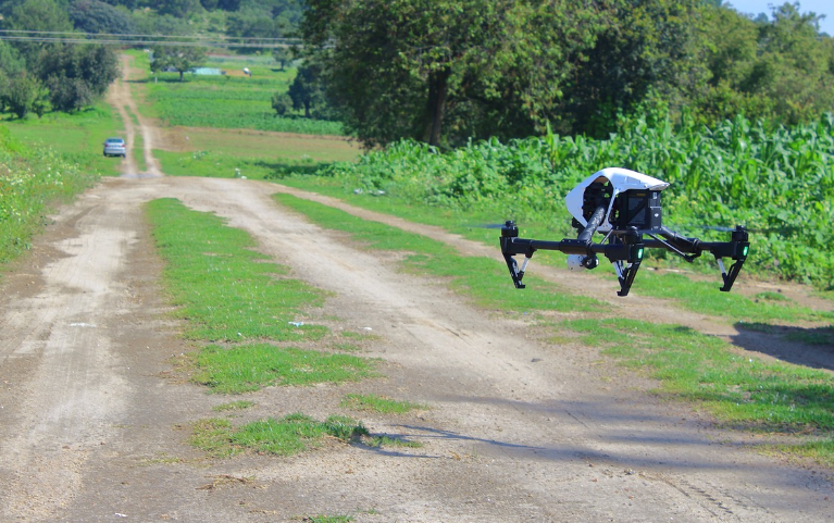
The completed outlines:
[[[773,8],[772,21],[707,9],[700,40],[709,79],[692,99],[698,121],[743,113],[796,124],[834,107],[834,40],[820,36],[819,16],[800,14],[797,4]]]

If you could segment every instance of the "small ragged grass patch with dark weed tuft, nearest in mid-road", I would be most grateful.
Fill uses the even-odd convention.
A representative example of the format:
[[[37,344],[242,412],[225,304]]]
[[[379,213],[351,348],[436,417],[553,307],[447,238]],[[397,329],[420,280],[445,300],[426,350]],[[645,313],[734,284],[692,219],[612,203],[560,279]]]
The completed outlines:
[[[345,443],[368,435],[368,429],[350,418],[332,415],[324,422],[294,413],[282,419],[260,420],[235,428],[227,420],[209,419],[195,423],[191,445],[217,458],[244,451],[273,456],[294,456],[321,446],[325,437]]]

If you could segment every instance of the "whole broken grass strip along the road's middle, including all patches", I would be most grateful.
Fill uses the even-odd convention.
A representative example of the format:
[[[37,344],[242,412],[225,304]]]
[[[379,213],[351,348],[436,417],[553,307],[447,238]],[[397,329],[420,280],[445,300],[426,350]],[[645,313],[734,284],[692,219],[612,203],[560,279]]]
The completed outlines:
[[[146,212],[165,261],[163,281],[174,314],[185,321],[184,336],[203,345],[189,358],[194,382],[216,394],[241,394],[270,385],[357,382],[377,375],[374,360],[344,352],[354,348],[350,341],[361,334],[335,336],[325,326],[307,323],[306,311],[321,307],[326,292],[286,277],[286,267],[252,250],[256,244],[248,234],[174,199],[153,200]],[[371,404],[379,412],[385,412],[386,401],[406,410],[423,408],[377,400],[357,403],[351,396],[345,404],[352,410]],[[228,410],[251,406],[234,401]],[[216,457],[246,450],[286,456],[315,448],[325,435],[372,446],[416,445],[381,439],[347,416],[320,422],[298,412],[239,427],[221,418],[201,420],[190,441]]]

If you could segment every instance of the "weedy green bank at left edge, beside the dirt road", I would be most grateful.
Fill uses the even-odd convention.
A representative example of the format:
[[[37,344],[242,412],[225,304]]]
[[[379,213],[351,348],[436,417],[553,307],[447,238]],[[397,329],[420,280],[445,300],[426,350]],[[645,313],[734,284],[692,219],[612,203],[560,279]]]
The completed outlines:
[[[23,146],[0,127],[0,264],[29,248],[52,206],[69,201],[98,178],[54,151]]]

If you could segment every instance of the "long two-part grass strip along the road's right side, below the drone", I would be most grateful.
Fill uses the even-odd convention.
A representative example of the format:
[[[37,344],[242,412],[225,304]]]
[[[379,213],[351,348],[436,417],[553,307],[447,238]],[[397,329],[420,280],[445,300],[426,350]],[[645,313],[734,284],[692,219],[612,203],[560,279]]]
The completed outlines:
[[[508,285],[501,264],[451,253],[439,241],[368,222],[289,195],[275,199],[324,228],[343,231],[365,248],[407,251],[407,271],[447,279],[475,303],[503,311],[605,311],[588,298],[559,294],[552,284],[531,282],[530,292]],[[687,284],[688,285],[688,284]],[[713,289],[718,294],[718,290]],[[748,300],[749,301],[749,300]],[[750,302],[756,311],[762,306]],[[767,308],[765,308],[767,309]],[[786,310],[789,310],[786,309]],[[834,466],[834,376],[789,363],[768,363],[714,336],[679,325],[651,325],[620,317],[565,320],[551,324],[562,343],[602,347],[603,352],[659,381],[656,394],[693,403],[720,425],[791,440],[767,448],[807,456]],[[568,338],[564,336],[568,335]]]

